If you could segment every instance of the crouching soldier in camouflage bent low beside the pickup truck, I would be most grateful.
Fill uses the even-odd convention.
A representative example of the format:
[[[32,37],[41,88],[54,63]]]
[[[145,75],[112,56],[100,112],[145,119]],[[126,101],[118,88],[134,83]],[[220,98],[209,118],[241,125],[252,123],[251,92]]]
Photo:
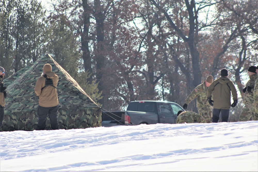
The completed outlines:
[[[176,124],[186,123],[207,123],[206,120],[198,113],[192,111],[178,111],[178,118],[176,119]]]

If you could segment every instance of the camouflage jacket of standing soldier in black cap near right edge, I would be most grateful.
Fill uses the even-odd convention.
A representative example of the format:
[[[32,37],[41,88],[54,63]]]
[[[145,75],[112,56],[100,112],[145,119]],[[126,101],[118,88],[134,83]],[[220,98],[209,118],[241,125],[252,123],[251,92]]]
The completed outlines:
[[[244,94],[244,103],[249,106],[253,105],[253,102],[254,102],[254,84],[255,84],[257,77],[258,77],[257,74],[249,76],[250,79],[246,84],[246,88],[248,86],[252,87],[251,92],[246,90],[245,94]]]

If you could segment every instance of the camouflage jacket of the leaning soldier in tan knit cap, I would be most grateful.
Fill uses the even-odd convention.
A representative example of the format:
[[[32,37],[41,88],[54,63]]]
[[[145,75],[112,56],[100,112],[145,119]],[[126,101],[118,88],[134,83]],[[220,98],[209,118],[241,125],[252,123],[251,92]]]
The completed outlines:
[[[205,87],[205,81],[195,87],[195,89],[192,91],[192,93],[186,98],[185,103],[189,104],[193,99],[197,97],[197,108],[199,107],[211,107],[209,102],[207,101],[207,89],[208,87]]]

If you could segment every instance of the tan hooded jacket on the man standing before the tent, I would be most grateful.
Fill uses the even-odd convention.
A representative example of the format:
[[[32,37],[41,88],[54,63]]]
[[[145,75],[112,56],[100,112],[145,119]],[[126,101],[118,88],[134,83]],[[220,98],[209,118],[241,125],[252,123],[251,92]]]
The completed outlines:
[[[58,76],[55,75],[55,72],[45,72],[47,75],[47,78],[51,78],[53,80],[53,85],[57,87],[58,83]],[[36,84],[35,84],[35,94],[39,96],[38,105],[42,107],[54,107],[58,105],[58,96],[57,96],[57,89],[53,86],[49,85],[45,86],[46,78],[44,76],[41,76],[38,78]],[[41,88],[43,88],[41,90]]]

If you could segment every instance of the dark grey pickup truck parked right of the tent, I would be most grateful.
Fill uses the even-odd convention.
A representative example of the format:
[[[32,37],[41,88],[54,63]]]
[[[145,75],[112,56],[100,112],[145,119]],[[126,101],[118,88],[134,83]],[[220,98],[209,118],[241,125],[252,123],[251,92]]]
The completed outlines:
[[[175,124],[179,110],[185,111],[179,104],[167,101],[132,101],[127,110],[122,111],[118,121],[102,120],[102,126],[140,124]],[[124,113],[123,113],[124,112]],[[116,123],[116,124],[115,124]],[[103,125],[104,124],[104,125]]]

